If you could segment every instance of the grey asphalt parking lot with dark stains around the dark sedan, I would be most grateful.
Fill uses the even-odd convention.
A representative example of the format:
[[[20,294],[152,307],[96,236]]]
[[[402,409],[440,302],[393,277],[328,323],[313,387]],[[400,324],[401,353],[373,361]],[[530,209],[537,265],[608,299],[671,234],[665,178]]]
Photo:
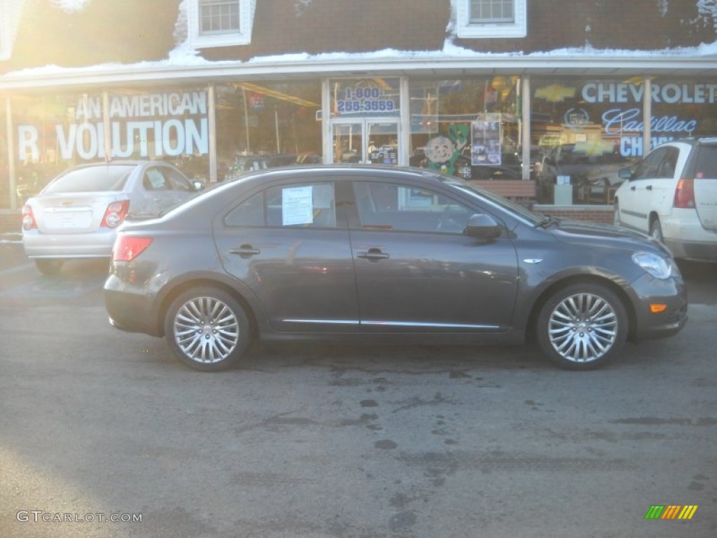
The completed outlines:
[[[717,535],[711,266],[683,268],[682,333],[596,372],[528,346],[307,344],[201,374],[108,326],[103,263],[44,278],[16,250],[0,244],[0,536]],[[698,509],[645,519],[655,505]]]

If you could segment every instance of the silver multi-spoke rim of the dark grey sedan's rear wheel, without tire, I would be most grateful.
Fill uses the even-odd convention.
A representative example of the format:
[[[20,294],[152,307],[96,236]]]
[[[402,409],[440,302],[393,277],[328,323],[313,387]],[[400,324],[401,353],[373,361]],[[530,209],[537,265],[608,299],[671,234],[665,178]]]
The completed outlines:
[[[242,335],[232,308],[215,297],[195,297],[174,316],[174,341],[182,353],[200,364],[222,362]]]

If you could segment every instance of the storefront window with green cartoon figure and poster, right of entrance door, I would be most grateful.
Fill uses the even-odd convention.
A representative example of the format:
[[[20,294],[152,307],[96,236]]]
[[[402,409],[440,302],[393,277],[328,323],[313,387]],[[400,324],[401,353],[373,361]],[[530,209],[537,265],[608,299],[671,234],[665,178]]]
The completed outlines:
[[[518,77],[409,82],[409,163],[465,179],[521,179]]]

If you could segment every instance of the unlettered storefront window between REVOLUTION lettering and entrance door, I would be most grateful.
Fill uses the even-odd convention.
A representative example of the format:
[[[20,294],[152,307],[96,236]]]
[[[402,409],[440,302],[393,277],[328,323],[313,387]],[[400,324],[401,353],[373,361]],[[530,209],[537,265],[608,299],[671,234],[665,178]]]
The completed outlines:
[[[236,82],[217,87],[217,179],[321,162],[321,84]]]

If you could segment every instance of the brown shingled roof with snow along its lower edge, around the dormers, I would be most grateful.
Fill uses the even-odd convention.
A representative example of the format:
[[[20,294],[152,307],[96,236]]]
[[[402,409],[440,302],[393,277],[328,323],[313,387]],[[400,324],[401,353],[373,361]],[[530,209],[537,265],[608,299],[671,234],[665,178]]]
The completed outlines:
[[[24,0],[14,50],[0,75],[27,67],[85,67],[166,59],[181,40],[187,0],[89,0],[76,11]],[[453,0],[458,1],[458,0]],[[698,0],[529,2],[528,35],[453,39],[476,52],[530,54],[568,47],[661,50],[716,39]],[[660,7],[660,4],[663,4]],[[667,6],[667,10],[665,10]],[[704,9],[702,9],[704,11]],[[176,27],[179,21],[179,35]],[[450,36],[451,0],[257,0],[248,45],[201,49],[207,60],[304,52],[440,51]]]

